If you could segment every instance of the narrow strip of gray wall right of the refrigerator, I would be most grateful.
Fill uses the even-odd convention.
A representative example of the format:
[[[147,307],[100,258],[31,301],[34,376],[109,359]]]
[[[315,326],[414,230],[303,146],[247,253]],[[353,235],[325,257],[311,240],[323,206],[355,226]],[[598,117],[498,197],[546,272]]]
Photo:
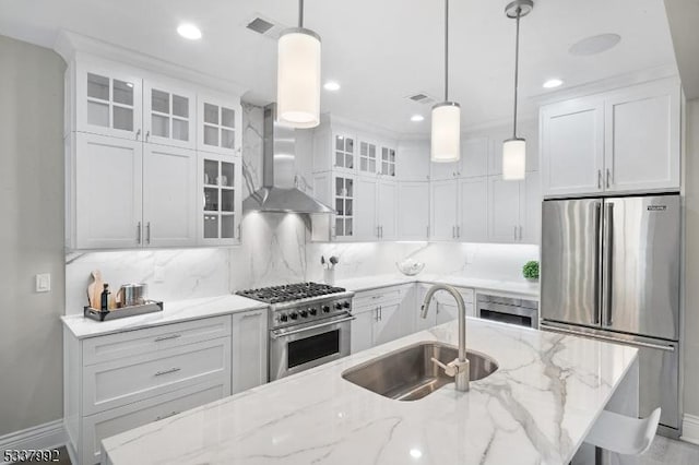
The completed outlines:
[[[699,99],[687,104],[685,414],[699,416]]]

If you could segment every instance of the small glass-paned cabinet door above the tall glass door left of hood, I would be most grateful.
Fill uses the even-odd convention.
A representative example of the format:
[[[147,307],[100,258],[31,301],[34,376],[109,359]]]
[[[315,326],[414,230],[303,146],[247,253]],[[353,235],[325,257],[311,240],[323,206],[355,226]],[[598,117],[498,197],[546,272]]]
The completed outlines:
[[[200,94],[197,102],[197,148],[221,155],[240,154],[242,145],[240,100]]]

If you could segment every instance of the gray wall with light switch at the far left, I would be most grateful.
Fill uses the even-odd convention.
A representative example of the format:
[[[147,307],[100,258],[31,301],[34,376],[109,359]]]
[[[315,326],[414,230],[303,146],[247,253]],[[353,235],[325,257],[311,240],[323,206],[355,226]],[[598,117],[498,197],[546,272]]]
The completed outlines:
[[[0,36],[0,436],[62,417],[64,68]]]

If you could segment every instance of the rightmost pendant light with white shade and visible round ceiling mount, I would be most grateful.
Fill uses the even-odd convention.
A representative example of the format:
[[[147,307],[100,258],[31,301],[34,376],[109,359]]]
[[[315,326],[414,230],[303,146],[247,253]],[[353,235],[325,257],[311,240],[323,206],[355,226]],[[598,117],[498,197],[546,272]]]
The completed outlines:
[[[517,37],[514,39],[514,110],[512,121],[512,139],[502,143],[502,179],[524,179],[526,168],[526,141],[517,136],[517,86],[520,65],[520,19],[526,16],[534,9],[532,0],[514,0],[505,8],[507,17],[517,21]]]

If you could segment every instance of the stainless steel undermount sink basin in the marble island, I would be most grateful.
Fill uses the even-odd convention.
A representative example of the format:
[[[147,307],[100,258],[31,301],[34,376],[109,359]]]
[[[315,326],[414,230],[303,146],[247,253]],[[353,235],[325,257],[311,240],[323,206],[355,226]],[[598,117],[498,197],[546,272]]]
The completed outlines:
[[[441,343],[418,343],[375,358],[342,373],[342,378],[358,386],[396,401],[417,401],[454,379],[431,361],[431,357],[449,363],[459,349]],[[498,369],[490,357],[466,350],[471,381],[482,380]]]

